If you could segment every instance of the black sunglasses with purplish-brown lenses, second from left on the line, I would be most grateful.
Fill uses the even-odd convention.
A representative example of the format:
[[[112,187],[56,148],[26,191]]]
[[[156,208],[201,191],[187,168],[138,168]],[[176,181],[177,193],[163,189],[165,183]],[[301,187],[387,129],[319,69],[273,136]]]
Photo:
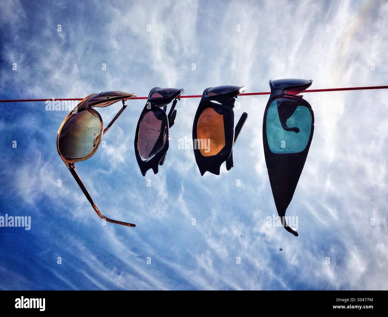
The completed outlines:
[[[158,173],[159,165],[165,162],[170,143],[170,127],[177,115],[175,106],[182,93],[183,89],[155,87],[148,94],[135,133],[135,155],[143,176],[149,169],[154,174]],[[167,115],[167,106],[172,101]]]

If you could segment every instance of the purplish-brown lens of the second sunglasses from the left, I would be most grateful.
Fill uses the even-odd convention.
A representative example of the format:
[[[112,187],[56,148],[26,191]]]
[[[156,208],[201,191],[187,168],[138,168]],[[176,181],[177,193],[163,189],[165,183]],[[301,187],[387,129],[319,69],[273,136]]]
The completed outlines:
[[[156,109],[145,113],[139,127],[138,148],[143,159],[149,159],[163,148],[167,140],[166,114]]]

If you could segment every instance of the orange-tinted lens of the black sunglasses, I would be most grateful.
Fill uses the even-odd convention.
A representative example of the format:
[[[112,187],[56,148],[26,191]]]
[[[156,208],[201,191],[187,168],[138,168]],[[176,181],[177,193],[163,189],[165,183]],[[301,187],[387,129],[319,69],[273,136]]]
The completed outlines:
[[[217,155],[225,146],[223,115],[213,108],[206,108],[199,116],[197,146],[203,156]]]

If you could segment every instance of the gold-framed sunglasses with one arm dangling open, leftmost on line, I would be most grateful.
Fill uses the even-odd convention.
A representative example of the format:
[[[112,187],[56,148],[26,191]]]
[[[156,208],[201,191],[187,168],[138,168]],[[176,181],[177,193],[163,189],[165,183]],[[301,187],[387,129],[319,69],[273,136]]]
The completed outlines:
[[[97,151],[102,135],[108,131],[114,121],[123,113],[126,108],[125,101],[135,97],[135,93],[125,93],[123,91],[106,91],[87,96],[67,115],[58,130],[57,151],[61,159],[65,162],[71,175],[73,175],[77,184],[85,194],[97,215],[114,224],[135,227],[134,224],[109,219],[101,214],[95,205],[92,196],[90,196],[80,176],[75,170],[75,162],[89,159]],[[113,103],[122,101],[123,107],[114,116],[112,121],[103,129],[102,118],[94,110],[94,107],[107,107]]]

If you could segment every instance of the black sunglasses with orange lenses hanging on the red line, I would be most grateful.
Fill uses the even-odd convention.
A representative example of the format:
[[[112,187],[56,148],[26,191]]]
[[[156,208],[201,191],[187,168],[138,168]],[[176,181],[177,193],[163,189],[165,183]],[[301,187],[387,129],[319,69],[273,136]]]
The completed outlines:
[[[194,117],[192,138],[194,156],[201,176],[208,171],[220,175],[220,167],[233,167],[233,145],[248,117],[244,112],[234,127],[234,104],[245,87],[206,88]]]

